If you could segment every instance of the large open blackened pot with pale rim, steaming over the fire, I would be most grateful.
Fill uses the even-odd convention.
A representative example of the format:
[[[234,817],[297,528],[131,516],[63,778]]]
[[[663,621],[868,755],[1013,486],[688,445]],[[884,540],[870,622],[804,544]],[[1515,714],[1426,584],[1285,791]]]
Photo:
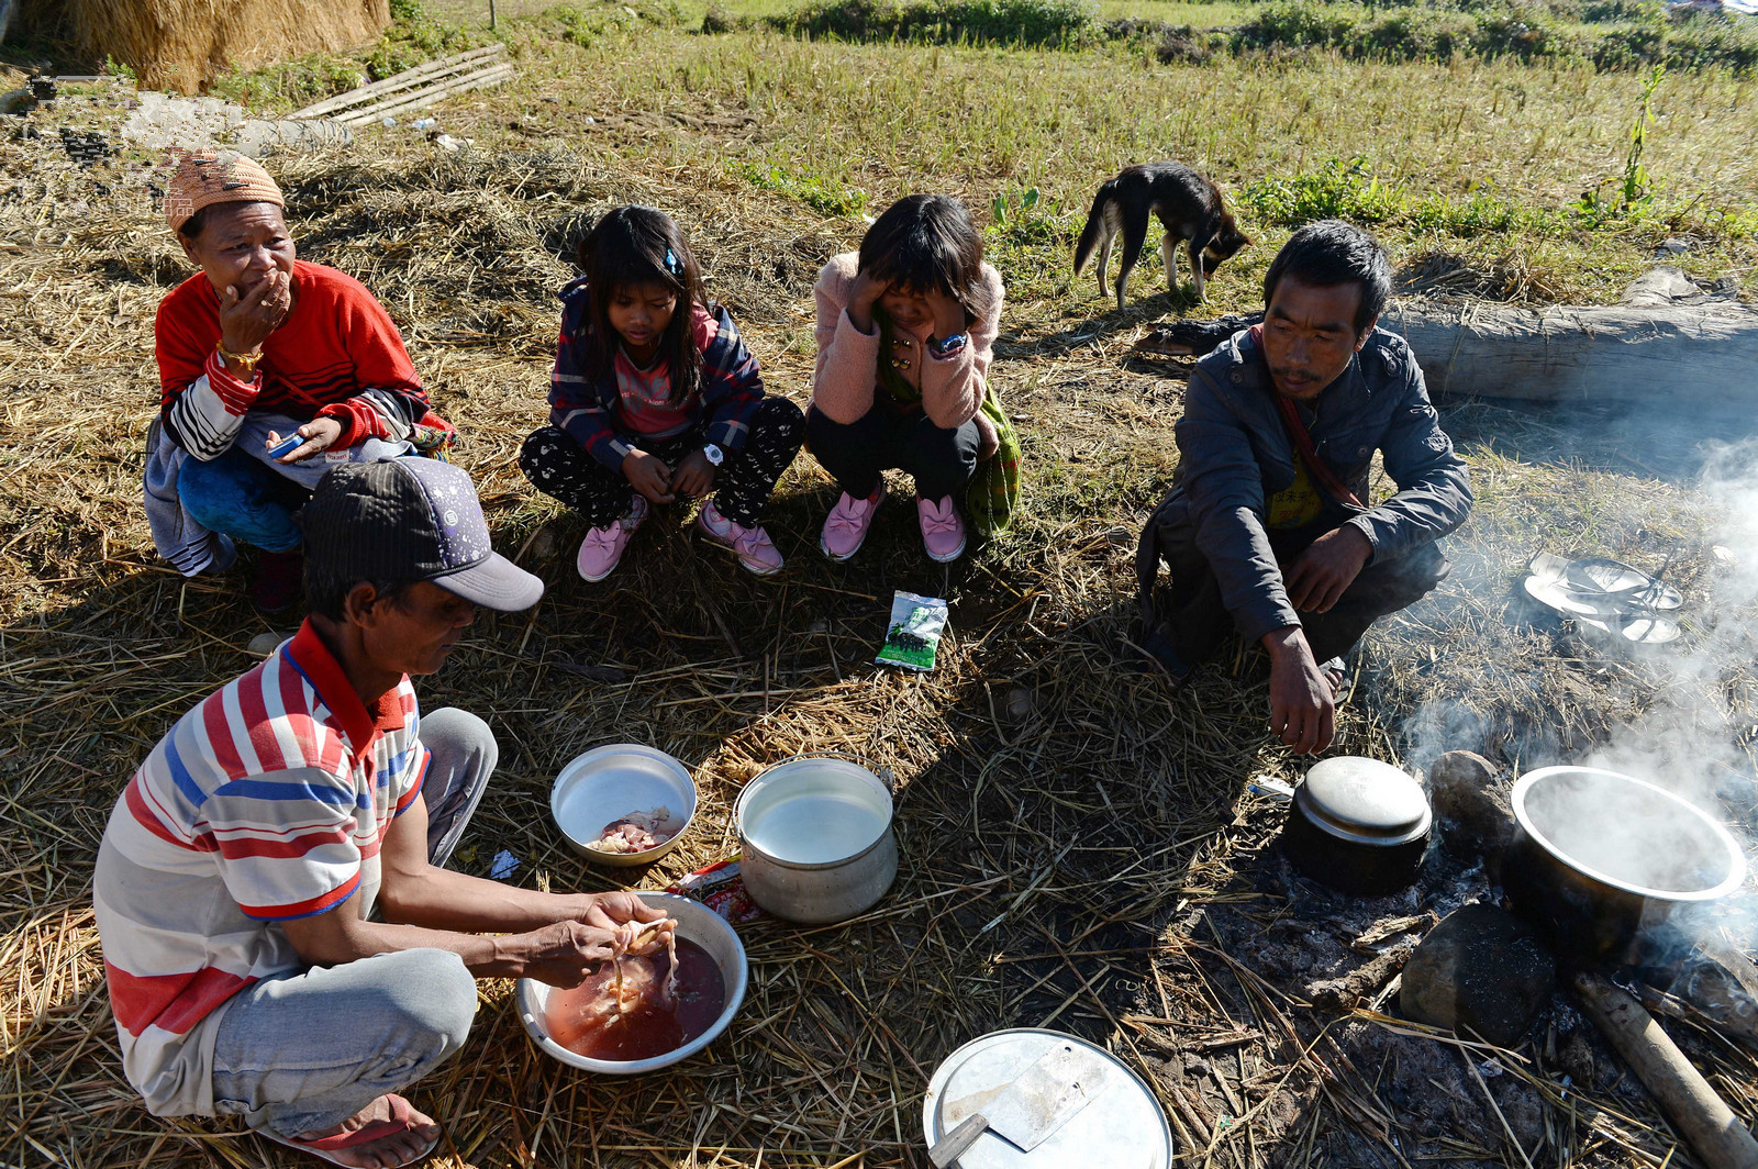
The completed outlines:
[[[1654,926],[1746,879],[1721,823],[1631,775],[1544,766],[1514,784],[1512,803],[1501,888],[1575,962],[1630,960]]]

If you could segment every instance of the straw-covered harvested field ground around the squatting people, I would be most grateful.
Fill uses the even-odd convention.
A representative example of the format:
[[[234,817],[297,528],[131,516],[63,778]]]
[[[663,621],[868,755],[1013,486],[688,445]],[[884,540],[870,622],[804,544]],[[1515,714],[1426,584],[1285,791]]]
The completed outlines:
[[[1255,7],[1101,16],[1227,26]],[[482,983],[469,1044],[413,1092],[447,1130],[432,1164],[926,1165],[928,1078],[1007,1027],[1116,1055],[1164,1109],[1181,1167],[1702,1164],[1563,993],[1496,1049],[1398,1018],[1396,995],[1340,1006],[1313,990],[1494,891],[1452,860],[1373,902],[1289,875],[1271,847],[1283,805],[1253,781],[1297,781],[1308,761],[1268,735],[1260,654],[1236,645],[1173,694],[1130,650],[1136,533],[1176,469],[1188,371],[1132,345],[1166,316],[1257,308],[1275,250],[1326,214],[1373,225],[1412,295],[1610,302],[1667,248],[1749,301],[1753,77],[1672,69],[1644,114],[1649,70],[1579,60],[1162,62],[1151,39],[879,44],[737,19],[703,33],[701,18],[510,0],[489,30],[485,4],[445,0],[399,7],[359,54],[213,88],[280,114],[490,37],[517,65],[506,86],[425,111],[459,149],[397,125],[265,160],[301,255],[387,306],[464,434],[457,462],[498,547],[548,582],[531,612],[485,614],[418,684],[425,707],[469,708],[501,742],[457,865],[487,874],[510,851],[510,881],[619,888],[548,823],[554,775],[605,742],[661,747],[701,788],[682,846],[619,870],[629,888],[735,853],[731,803],[775,761],[842,751],[900,781],[891,893],[840,926],[740,926],[749,998],[675,1069],[571,1072],[527,1042],[512,986]],[[0,88],[91,65],[56,53],[7,46]],[[120,132],[130,95],[125,77],[69,84],[0,118],[0,1164],[295,1164],[223,1122],[146,1115],[121,1079],[91,923],[93,854],[130,770],[251,666],[255,636],[290,631],[250,610],[243,570],[183,580],[148,536],[153,313],[190,269],[156,218],[156,160]],[[1626,200],[1638,118],[1644,183]],[[63,130],[109,153],[76,158]],[[1255,244],[1199,306],[1188,285],[1167,294],[1150,236],[1116,311],[1072,278],[1072,241],[1104,178],[1159,158],[1213,176]],[[515,466],[545,418],[571,241],[612,206],[666,209],[770,392],[803,403],[817,269],[858,244],[863,216],[923,190],[969,202],[1007,283],[993,376],[1025,443],[1016,531],[941,568],[897,506],[860,557],[828,564],[817,526],[835,489],[803,455],[768,519],[781,577],[747,577],[670,508],[585,585],[582,522]],[[1449,541],[1454,575],[1364,642],[1334,754],[1419,770],[1461,747],[1515,772],[1621,759],[1640,740],[1739,831],[1758,828],[1758,800],[1742,800],[1758,738],[1749,411],[1656,401],[1443,403],[1478,506]],[[1712,462],[1705,443],[1721,445]],[[1684,649],[1628,656],[1533,621],[1514,589],[1540,550],[1665,568],[1688,601]],[[951,601],[932,673],[872,663],[897,589]],[[1718,921],[1746,949],[1751,904]],[[1665,1023],[1740,1120],[1758,1118],[1753,1053],[1700,1020]]]

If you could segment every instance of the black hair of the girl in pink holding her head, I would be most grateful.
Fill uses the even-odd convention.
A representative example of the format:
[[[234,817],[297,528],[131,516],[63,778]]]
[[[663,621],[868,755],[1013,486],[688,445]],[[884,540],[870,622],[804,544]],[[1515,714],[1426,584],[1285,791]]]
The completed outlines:
[[[990,309],[983,283],[983,234],[951,195],[905,195],[861,237],[860,271],[893,288],[944,292],[965,309],[965,327]]]

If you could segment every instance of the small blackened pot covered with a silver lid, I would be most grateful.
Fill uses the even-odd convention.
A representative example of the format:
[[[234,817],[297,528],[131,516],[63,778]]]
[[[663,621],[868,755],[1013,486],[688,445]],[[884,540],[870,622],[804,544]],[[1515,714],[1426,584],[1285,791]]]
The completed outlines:
[[[1378,759],[1334,756],[1315,763],[1294,789],[1282,851],[1320,884],[1384,897],[1417,879],[1433,821],[1410,775]]]

